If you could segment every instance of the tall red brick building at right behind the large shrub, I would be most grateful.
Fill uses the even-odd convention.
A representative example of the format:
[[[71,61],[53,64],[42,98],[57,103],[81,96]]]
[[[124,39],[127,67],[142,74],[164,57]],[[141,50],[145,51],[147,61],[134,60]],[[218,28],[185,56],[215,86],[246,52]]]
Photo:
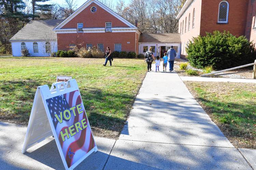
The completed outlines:
[[[256,43],[255,0],[187,0],[176,19],[179,19],[181,57],[186,56],[189,40],[205,32],[229,31],[245,35]]]

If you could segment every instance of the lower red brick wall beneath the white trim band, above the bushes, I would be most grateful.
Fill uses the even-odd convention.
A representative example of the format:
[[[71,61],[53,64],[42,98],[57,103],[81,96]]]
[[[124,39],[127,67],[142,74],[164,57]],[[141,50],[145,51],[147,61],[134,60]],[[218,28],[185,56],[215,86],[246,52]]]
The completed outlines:
[[[103,44],[104,49],[110,47],[114,51],[114,44],[122,44],[122,51],[135,52],[135,32],[104,32],[104,33],[65,33],[57,34],[58,50],[69,50],[69,44],[75,44],[79,48],[86,44]],[[130,42],[130,44],[127,44]]]

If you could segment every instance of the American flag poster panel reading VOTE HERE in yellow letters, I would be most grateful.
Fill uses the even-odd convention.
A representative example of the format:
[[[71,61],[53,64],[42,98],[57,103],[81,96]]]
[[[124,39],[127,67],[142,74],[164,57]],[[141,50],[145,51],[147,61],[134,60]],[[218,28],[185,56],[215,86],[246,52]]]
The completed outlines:
[[[78,90],[46,99],[68,167],[95,147]]]

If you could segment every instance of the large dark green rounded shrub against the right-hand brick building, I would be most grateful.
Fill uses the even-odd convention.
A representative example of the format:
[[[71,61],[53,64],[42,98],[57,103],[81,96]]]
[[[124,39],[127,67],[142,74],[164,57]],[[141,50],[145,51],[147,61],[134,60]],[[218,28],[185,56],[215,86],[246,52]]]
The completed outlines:
[[[214,31],[193,38],[186,51],[189,63],[196,68],[213,66],[214,69],[226,69],[253,63],[256,59],[254,47],[245,36]]]

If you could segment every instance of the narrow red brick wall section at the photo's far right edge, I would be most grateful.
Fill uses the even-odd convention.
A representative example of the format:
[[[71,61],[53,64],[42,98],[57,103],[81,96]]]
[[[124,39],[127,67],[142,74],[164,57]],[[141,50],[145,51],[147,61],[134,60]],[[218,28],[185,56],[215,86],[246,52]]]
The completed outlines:
[[[248,12],[247,12],[247,23],[245,29],[245,36],[253,43],[256,43],[256,29],[255,27],[256,17],[256,1],[248,0]]]

